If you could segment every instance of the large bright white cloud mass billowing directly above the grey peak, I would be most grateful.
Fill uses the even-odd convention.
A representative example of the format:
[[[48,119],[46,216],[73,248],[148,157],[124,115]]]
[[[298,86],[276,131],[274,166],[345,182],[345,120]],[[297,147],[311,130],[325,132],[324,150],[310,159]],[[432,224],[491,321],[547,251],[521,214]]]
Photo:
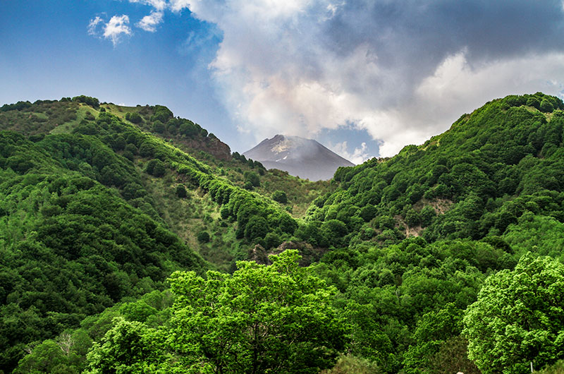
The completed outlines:
[[[336,46],[324,44],[322,35],[325,17],[335,16],[341,6],[329,0],[178,0],[171,6],[176,11],[186,6],[223,31],[210,67],[240,131],[257,141],[281,128],[313,137],[354,123],[382,140],[381,156],[391,156],[445,131],[465,111],[489,99],[539,90],[557,94],[564,82],[564,55],[556,53],[471,66],[462,48],[420,78],[406,74],[415,61],[386,64],[373,44],[338,53]],[[361,154],[348,155],[360,159]]]

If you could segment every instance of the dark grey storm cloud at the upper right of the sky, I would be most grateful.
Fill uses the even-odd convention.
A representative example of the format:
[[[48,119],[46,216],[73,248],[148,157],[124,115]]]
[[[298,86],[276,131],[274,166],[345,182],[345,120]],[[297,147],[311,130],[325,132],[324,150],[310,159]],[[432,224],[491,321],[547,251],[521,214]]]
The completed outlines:
[[[369,45],[381,68],[401,71],[401,95],[465,50],[479,66],[564,50],[561,1],[348,1],[324,24],[326,49],[347,56]]]

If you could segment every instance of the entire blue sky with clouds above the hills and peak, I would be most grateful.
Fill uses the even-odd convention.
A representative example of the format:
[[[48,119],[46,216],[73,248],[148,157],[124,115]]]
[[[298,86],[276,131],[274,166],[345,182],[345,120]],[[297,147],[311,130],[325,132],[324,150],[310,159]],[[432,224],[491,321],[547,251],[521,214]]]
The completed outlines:
[[[564,88],[560,0],[4,3],[1,104],[163,104],[238,152],[286,133],[362,162]]]

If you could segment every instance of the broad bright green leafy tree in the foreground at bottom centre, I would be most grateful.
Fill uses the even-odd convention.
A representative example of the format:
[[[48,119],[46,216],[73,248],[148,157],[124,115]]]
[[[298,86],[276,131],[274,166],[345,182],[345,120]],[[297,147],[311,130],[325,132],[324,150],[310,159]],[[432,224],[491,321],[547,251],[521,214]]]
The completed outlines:
[[[319,373],[345,346],[336,289],[298,266],[298,251],[272,265],[238,262],[233,275],[175,272],[178,295],[168,349],[188,373]]]

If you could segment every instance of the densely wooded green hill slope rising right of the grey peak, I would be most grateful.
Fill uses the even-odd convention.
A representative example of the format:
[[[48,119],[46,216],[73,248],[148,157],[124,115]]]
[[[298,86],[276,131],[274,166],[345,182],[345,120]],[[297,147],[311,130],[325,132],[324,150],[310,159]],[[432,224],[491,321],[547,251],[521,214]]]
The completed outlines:
[[[509,200],[563,191],[563,107],[560,99],[539,92],[489,102],[423,145],[339,169],[340,186],[310,208],[306,219],[344,222],[351,234],[341,245],[389,245],[403,239],[402,231],[427,241],[503,234],[525,212],[508,210]],[[486,206],[490,199],[501,204]],[[376,236],[366,239],[357,217],[370,222]]]

